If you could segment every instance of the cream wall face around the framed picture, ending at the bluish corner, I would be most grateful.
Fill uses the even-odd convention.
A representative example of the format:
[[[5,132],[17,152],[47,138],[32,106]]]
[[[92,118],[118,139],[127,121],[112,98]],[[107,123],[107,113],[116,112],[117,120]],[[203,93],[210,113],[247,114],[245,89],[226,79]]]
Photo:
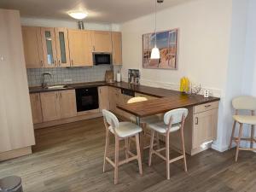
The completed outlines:
[[[121,25],[123,78],[127,69],[138,68],[142,84],[177,89],[179,79],[188,76],[221,96],[229,60],[231,9],[231,0],[198,0],[157,14],[157,31],[179,28],[178,70],[142,67],[142,35],[154,31],[154,15],[125,22]]]

